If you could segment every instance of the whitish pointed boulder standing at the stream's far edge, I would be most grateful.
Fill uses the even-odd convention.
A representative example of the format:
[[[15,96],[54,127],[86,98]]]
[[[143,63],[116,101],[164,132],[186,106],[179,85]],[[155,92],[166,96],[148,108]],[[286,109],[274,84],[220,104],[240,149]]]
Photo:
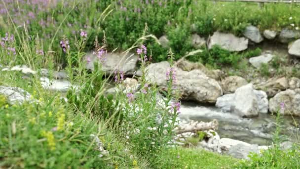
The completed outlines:
[[[216,106],[241,117],[253,117],[268,112],[268,99],[264,91],[254,90],[252,84],[247,84],[237,88],[234,94],[219,97]]]

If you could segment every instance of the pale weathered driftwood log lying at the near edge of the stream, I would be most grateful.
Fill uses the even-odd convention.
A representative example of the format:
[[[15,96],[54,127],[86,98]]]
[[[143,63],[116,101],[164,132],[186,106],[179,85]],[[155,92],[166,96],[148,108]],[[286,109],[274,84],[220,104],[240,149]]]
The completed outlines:
[[[175,132],[180,134],[184,132],[196,132],[196,131],[203,131],[203,130],[217,130],[219,123],[216,119],[211,122],[195,122],[191,121],[188,124],[179,125],[179,127],[175,128]]]

